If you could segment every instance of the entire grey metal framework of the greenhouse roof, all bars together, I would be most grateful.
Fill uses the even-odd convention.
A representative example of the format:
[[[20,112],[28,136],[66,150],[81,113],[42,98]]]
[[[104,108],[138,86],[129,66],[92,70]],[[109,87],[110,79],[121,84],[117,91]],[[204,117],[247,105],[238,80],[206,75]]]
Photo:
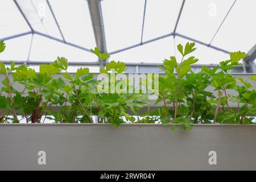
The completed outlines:
[[[36,34],[36,35],[44,36],[45,38],[52,39],[52,40],[55,40],[57,42],[64,43],[64,44],[67,44],[69,46],[72,46],[72,47],[75,47],[75,48],[78,48],[78,49],[81,49],[83,51],[87,51],[87,52],[91,53],[90,49],[78,46],[76,44],[67,42],[65,40],[65,38],[63,36],[63,33],[61,32],[59,23],[57,22],[56,16],[53,13],[52,7],[51,7],[48,0],[46,0],[46,1],[48,3],[49,9],[50,9],[51,14],[53,16],[53,19],[55,20],[57,28],[59,28],[59,32],[60,32],[61,37],[63,38],[63,40],[61,40],[59,38],[55,38],[55,37],[47,35],[47,34],[43,34],[42,32],[35,31],[33,29],[33,27],[31,26],[30,22],[28,21],[28,19],[26,18],[26,15],[24,15],[24,13],[23,13],[22,9],[20,8],[19,4],[17,3],[17,1],[16,0],[13,0],[13,1],[14,1],[15,5],[18,7],[18,9],[19,9],[20,13],[22,14],[23,18],[26,20],[26,22],[27,22],[28,26],[30,27],[31,31],[23,32],[21,34],[16,34],[16,35],[12,35],[12,36],[7,36],[5,38],[1,38],[0,41],[10,40],[10,39],[18,38],[20,36],[29,35],[29,34],[32,34],[32,35]],[[101,52],[106,52],[107,53],[108,51],[107,51],[107,48],[106,48],[104,21],[103,21],[103,18],[102,18],[102,10],[101,10],[101,2],[100,2],[101,0],[86,0],[86,1],[88,2],[90,18],[92,20],[92,27],[93,27],[93,31],[94,31],[94,38],[96,40],[96,46],[100,49]],[[164,38],[167,38],[169,36],[174,36],[174,37],[179,36],[180,38],[191,40],[191,41],[199,43],[203,46],[207,46],[207,47],[216,49],[217,51],[221,51],[221,52],[224,52],[224,53],[230,53],[229,51],[227,51],[225,49],[222,49],[222,48],[219,48],[219,47],[216,47],[216,46],[212,46],[210,43],[212,43],[212,40],[217,35],[218,30],[220,30],[220,27],[222,26],[226,17],[228,16],[230,10],[234,6],[234,3],[236,3],[236,0],[234,0],[232,6],[230,7],[230,9],[229,9],[228,13],[226,14],[226,16],[224,17],[224,19],[222,20],[220,26],[218,27],[218,29],[217,29],[216,33],[214,34],[210,43],[201,42],[200,40],[193,39],[193,38],[190,38],[188,36],[185,36],[185,35],[182,35],[182,34],[179,34],[178,32],[176,32],[177,26],[179,24],[181,13],[183,11],[185,0],[183,0],[183,2],[181,4],[179,15],[178,15],[177,20],[176,20],[174,32],[171,32],[170,34],[166,34],[166,35],[163,35],[163,36],[159,36],[159,37],[154,38],[154,39],[146,40],[146,41],[143,42],[142,39],[143,39],[143,28],[144,28],[144,19],[145,19],[145,12],[146,12],[146,3],[147,3],[147,0],[145,0],[145,3],[144,3],[141,42],[138,43],[138,44],[134,44],[132,46],[126,47],[126,48],[122,48],[122,49],[118,49],[116,51],[109,52],[110,55],[113,55],[115,53],[119,53],[119,52],[122,52],[122,51],[126,51],[128,49],[135,48],[135,47],[138,47],[138,46],[142,46],[144,44],[148,44],[148,43],[154,42],[156,40],[164,39]],[[31,49],[31,47],[30,47],[30,49]],[[28,54],[30,54],[30,52]],[[244,62],[245,62],[244,67],[247,69],[247,72],[256,73],[256,67],[255,67],[255,64],[253,62],[255,57],[256,57],[256,45],[251,49],[251,51],[249,51],[249,55],[247,57],[245,57],[245,59],[244,59]],[[103,64],[105,64],[107,61],[108,60],[104,60],[104,62],[102,62],[100,60],[93,61],[93,62],[92,61],[72,61],[69,64],[70,65],[100,65],[100,67],[103,67]],[[6,64],[10,63],[10,61],[2,61],[2,62],[6,63]],[[28,60],[15,61],[15,63],[18,63],[18,64],[27,63],[27,64],[39,65],[39,64],[44,64],[44,63],[48,64],[48,63],[51,63],[51,62],[50,61],[36,61],[36,62],[35,61],[30,61],[29,56],[28,56]],[[126,65],[129,66],[129,67],[135,67],[135,70],[139,71],[139,70],[141,70],[140,68],[150,67],[150,66],[154,66],[154,65],[162,65],[162,63],[155,63],[155,64],[154,63],[126,63]],[[193,65],[193,67],[201,67],[201,66],[202,65],[200,65],[200,64]],[[207,66],[212,67],[212,66],[214,66],[214,64],[210,64],[210,65],[208,64]],[[238,69],[240,69],[240,67]]]

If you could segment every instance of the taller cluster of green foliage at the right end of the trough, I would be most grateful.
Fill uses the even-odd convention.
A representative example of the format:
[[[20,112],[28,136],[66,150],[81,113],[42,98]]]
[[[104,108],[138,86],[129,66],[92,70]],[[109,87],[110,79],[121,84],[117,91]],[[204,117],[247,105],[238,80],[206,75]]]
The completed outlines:
[[[230,59],[221,61],[220,66],[212,69],[203,66],[199,73],[195,73],[191,70],[191,64],[198,59],[188,56],[195,51],[195,43],[187,43],[184,48],[179,44],[177,49],[182,57],[180,64],[172,56],[170,60],[164,60],[163,67],[160,67],[166,73],[159,80],[158,102],[164,103],[159,109],[159,115],[163,124],[182,123],[184,129],[188,130],[192,123],[253,123],[256,115],[256,90],[241,77],[238,80],[243,86],[238,86],[236,78],[229,73],[234,66],[241,64],[239,61],[246,53],[232,52]],[[177,77],[174,75],[175,69]],[[256,81],[256,76],[250,79]],[[212,92],[206,91],[208,86],[217,91],[217,98]],[[236,90],[238,96],[228,95],[227,89]],[[229,102],[237,102],[238,111],[230,108]],[[168,104],[172,104],[172,109]],[[172,130],[175,128],[176,125]]]

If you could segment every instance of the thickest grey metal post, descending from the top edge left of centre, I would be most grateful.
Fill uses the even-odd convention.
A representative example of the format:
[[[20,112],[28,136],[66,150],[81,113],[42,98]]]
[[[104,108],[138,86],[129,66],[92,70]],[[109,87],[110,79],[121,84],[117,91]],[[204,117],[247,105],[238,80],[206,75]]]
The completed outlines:
[[[92,20],[92,27],[96,46],[98,47],[98,49],[100,49],[101,53],[108,52],[106,48],[106,38],[101,10],[101,2],[100,0],[88,0],[87,2],[90,12],[90,19]],[[103,60],[103,62],[100,60],[98,61],[100,63],[100,67],[103,67],[108,60]]]

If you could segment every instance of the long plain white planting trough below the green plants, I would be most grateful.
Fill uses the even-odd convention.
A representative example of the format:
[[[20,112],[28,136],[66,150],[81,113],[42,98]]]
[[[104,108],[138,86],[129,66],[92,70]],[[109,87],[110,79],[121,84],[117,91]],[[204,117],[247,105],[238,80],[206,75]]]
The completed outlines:
[[[52,169],[255,170],[256,125],[0,125],[0,170]]]

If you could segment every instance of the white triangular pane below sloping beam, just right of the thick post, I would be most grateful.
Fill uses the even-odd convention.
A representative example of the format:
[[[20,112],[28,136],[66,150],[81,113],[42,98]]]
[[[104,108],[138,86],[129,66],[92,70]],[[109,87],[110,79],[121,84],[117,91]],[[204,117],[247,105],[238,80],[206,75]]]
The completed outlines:
[[[157,40],[127,51],[115,53],[110,60],[120,60],[126,63],[162,63],[174,55],[174,38],[172,36]]]

